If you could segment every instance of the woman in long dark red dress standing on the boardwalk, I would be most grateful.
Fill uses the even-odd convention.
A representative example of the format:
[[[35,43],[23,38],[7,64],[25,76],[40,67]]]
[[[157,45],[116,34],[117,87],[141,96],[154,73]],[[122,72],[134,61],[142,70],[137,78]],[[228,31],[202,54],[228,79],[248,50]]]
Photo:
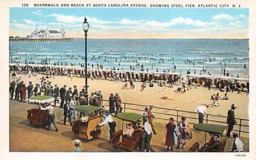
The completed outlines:
[[[171,150],[173,151],[173,145],[175,145],[175,128],[176,125],[174,123],[174,119],[170,118],[168,124],[165,126],[165,145],[167,146],[167,151],[169,150],[169,147],[171,147]]]

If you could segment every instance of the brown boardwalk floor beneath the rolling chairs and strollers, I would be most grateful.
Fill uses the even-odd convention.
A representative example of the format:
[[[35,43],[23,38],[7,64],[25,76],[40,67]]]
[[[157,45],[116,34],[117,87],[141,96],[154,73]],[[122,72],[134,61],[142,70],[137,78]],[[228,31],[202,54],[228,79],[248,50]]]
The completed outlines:
[[[63,124],[63,110],[56,108],[56,122],[58,132],[47,131],[44,127],[29,125],[26,120],[27,110],[35,108],[32,104],[15,102],[10,100],[10,151],[33,151],[33,152],[72,152],[74,148],[73,140],[76,139],[71,131],[71,127]],[[116,119],[116,130],[122,129],[122,122]],[[152,148],[156,152],[166,152],[164,147],[164,125],[156,122],[155,127],[158,134],[152,138]],[[192,126],[191,126],[192,127]],[[188,152],[189,147],[196,141],[200,145],[204,144],[205,133],[193,131],[193,139],[189,140],[184,150],[174,149],[174,152]],[[120,148],[114,149],[107,141],[108,127],[102,127],[102,134],[96,140],[83,140],[81,145],[83,152],[125,152]],[[244,151],[248,152],[248,138],[241,138],[244,142]],[[232,139],[228,138],[225,151],[232,147]],[[138,151],[138,150],[136,150]]]

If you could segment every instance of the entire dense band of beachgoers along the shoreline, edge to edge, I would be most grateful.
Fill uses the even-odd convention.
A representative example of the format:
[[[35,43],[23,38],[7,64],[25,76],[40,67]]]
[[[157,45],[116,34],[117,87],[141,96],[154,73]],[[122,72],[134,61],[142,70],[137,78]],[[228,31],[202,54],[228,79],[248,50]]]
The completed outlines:
[[[188,70],[188,73],[189,70]],[[61,67],[38,67],[38,66],[19,66],[10,65],[11,77],[15,78],[17,74],[28,74],[29,77],[43,74],[45,78],[55,78],[55,76],[68,76],[72,81],[72,77],[84,77],[83,69],[61,68]],[[89,70],[88,78],[90,79],[106,79],[108,81],[124,82],[122,89],[135,88],[134,82],[141,81],[141,92],[147,87],[154,87],[157,83],[160,87],[177,86],[175,92],[184,93],[192,88],[192,86],[205,86],[208,90],[217,88],[220,92],[249,92],[249,82],[239,82],[237,80],[231,81],[227,79],[210,79],[206,77],[182,77],[176,73],[150,73],[150,72],[116,72],[116,70]],[[129,83],[129,85],[128,85]]]

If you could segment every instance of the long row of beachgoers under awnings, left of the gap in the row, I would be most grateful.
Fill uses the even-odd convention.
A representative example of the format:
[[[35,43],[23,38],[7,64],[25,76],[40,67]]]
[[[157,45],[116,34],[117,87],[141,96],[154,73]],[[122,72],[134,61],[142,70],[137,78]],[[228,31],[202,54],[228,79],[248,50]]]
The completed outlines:
[[[46,77],[54,78],[55,76],[68,76],[68,77],[84,77],[84,69],[78,68],[66,68],[66,67],[45,67],[45,66],[20,66],[10,65],[10,73],[12,77],[17,74],[29,74],[29,76],[36,76],[37,74],[43,74]],[[169,81],[170,83],[179,80],[180,74],[176,73],[144,73],[140,72],[122,72],[118,70],[88,70],[88,77],[90,79],[107,79],[109,81]]]

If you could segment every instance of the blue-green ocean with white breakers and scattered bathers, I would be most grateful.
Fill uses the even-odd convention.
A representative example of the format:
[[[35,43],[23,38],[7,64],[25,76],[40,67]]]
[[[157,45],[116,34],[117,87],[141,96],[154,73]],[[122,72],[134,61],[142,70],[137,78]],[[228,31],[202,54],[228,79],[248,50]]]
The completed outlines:
[[[84,65],[84,39],[69,42],[10,42],[10,63]],[[248,40],[88,39],[88,67],[211,74],[249,74]],[[93,65],[93,67],[92,67]],[[221,69],[222,68],[222,69]]]

